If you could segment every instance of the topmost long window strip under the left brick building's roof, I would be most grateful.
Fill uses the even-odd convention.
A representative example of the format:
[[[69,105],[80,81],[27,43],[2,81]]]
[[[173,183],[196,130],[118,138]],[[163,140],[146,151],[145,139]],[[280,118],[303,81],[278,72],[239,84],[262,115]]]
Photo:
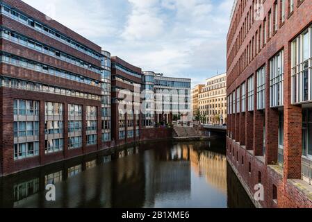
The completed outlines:
[[[1,5],[1,13],[3,13],[3,15],[7,15],[21,22],[22,24],[35,28],[36,30],[44,33],[45,35],[54,37],[54,39],[60,42],[63,42],[64,44],[67,44],[71,46],[72,48],[77,49],[83,53],[86,53],[88,56],[92,56],[93,58],[96,58],[98,60],[101,59],[102,55],[100,53],[97,53],[96,51],[93,51],[92,49],[88,49],[88,47],[83,46],[82,44],[79,44],[78,42],[72,40],[69,37],[66,37],[63,34],[60,34],[58,31],[54,31],[53,28],[49,28],[48,26],[40,22],[35,22],[33,19],[31,19],[27,15],[13,10],[10,6],[4,5],[3,3],[1,3],[0,5]]]

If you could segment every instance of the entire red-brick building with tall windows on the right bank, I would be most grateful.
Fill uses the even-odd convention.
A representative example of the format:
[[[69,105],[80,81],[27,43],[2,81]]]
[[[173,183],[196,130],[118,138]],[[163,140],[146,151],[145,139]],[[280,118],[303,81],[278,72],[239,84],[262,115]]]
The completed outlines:
[[[263,185],[255,205],[312,207],[312,3],[256,3],[235,1],[227,36],[227,158],[252,200]]]

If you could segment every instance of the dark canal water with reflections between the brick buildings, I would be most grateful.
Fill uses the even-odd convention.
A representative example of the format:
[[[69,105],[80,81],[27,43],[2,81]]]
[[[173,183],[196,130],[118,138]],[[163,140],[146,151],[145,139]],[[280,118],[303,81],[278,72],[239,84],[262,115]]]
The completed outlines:
[[[223,141],[127,146],[1,178],[0,207],[253,207]]]

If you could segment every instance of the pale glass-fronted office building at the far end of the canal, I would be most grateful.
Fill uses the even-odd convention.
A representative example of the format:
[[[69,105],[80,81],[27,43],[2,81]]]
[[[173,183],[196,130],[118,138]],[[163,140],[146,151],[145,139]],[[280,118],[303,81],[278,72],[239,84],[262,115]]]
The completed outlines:
[[[172,78],[155,74],[154,71],[144,71],[145,94],[145,125],[153,116],[150,113],[154,109],[154,123],[172,123],[174,115],[179,115],[181,121],[192,121],[190,78]],[[154,96],[151,93],[154,91]],[[151,104],[154,99],[154,106]],[[147,107],[147,109],[146,109]],[[145,120],[143,120],[145,121]]]

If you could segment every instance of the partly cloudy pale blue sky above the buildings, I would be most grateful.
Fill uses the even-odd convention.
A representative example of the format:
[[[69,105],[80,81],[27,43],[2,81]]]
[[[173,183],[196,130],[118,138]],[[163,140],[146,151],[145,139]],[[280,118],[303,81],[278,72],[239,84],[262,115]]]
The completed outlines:
[[[192,86],[227,69],[233,0],[23,0],[112,56]]]

